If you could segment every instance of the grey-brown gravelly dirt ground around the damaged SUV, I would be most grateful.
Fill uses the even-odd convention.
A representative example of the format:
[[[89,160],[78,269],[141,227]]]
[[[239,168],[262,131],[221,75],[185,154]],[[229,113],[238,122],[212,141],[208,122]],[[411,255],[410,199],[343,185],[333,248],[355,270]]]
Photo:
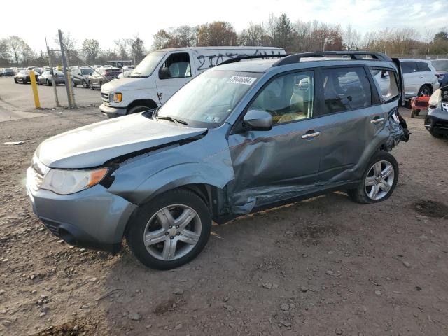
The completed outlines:
[[[0,123],[0,335],[448,335],[448,139],[409,110],[386,202],[331,193],[214,225],[197,259],[165,272],[43,228],[25,194],[32,153],[104,120],[45,113]]]

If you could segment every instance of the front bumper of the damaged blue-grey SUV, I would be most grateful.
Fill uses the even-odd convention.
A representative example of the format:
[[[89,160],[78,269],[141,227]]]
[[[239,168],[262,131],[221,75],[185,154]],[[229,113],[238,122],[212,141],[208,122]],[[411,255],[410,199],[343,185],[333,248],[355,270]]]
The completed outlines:
[[[95,250],[120,249],[127,221],[137,205],[113,195],[101,185],[71,195],[34,190],[32,167],[27,171],[27,193],[34,213],[68,244]]]

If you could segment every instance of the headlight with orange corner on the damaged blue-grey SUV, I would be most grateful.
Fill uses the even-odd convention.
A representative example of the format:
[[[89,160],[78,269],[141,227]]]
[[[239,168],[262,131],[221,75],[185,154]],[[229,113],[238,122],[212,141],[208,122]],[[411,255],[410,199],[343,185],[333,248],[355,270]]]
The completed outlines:
[[[69,170],[50,169],[43,178],[41,189],[57,194],[68,195],[90,188],[104,179],[109,169]]]

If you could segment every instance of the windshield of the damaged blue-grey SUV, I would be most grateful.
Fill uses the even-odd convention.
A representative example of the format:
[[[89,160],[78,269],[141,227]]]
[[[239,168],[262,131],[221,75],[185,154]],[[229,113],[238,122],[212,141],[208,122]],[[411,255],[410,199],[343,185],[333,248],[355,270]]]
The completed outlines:
[[[236,71],[204,72],[176,92],[160,108],[158,117],[178,118],[193,127],[217,127],[261,75]]]

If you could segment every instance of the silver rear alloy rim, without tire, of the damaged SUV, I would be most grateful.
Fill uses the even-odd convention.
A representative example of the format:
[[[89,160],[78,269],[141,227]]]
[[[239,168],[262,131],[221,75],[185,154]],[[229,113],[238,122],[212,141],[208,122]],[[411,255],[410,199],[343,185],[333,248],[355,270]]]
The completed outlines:
[[[371,200],[381,200],[393,186],[395,172],[391,162],[381,160],[376,162],[365,176],[364,187],[367,197]]]

